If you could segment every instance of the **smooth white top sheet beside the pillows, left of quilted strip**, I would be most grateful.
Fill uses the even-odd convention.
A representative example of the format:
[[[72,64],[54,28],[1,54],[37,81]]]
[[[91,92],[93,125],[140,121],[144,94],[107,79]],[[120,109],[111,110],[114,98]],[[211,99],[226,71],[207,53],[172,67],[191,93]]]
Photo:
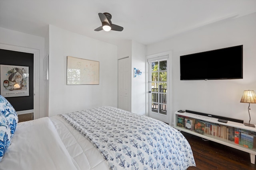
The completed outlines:
[[[12,143],[0,162],[0,170],[76,169],[48,117],[18,123]]]

